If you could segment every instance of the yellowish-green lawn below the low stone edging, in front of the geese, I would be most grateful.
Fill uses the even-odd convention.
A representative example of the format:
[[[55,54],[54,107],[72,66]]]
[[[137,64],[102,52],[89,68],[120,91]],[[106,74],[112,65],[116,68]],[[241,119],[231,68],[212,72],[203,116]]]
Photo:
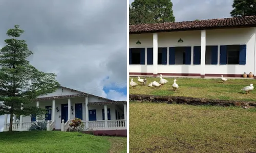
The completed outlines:
[[[130,152],[256,152],[256,109],[130,102]]]

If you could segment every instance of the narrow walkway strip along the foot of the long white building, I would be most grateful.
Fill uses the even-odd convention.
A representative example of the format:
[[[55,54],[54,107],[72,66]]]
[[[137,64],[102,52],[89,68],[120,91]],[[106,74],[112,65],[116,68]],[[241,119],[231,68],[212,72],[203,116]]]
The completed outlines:
[[[145,75],[129,75],[130,77],[145,77]],[[153,75],[146,75],[146,77],[153,77]],[[159,78],[159,75],[157,76]],[[194,78],[194,79],[202,79],[200,76],[179,76],[179,75],[163,75],[163,78]],[[204,79],[220,79],[221,77],[205,77]],[[253,78],[240,78],[240,77],[224,77],[226,79],[253,79]]]

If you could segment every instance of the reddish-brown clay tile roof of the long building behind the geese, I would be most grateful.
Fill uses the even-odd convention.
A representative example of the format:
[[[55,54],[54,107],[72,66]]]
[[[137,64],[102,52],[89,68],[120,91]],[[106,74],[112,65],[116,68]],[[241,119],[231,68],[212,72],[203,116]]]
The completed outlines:
[[[256,16],[130,25],[130,34],[256,27]]]

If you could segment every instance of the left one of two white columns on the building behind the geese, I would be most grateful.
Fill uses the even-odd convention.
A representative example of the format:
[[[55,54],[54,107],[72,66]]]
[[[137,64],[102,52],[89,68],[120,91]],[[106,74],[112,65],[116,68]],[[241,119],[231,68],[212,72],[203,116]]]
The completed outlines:
[[[157,33],[153,34],[153,75],[157,76],[157,59],[158,59],[158,35]]]

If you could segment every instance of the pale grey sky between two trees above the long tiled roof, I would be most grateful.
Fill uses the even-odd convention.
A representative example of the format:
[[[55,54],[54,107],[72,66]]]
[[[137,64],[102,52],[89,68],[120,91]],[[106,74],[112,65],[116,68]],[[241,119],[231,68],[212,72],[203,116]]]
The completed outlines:
[[[171,0],[175,20],[212,19],[230,17],[233,0]],[[134,0],[129,0],[130,4]]]

